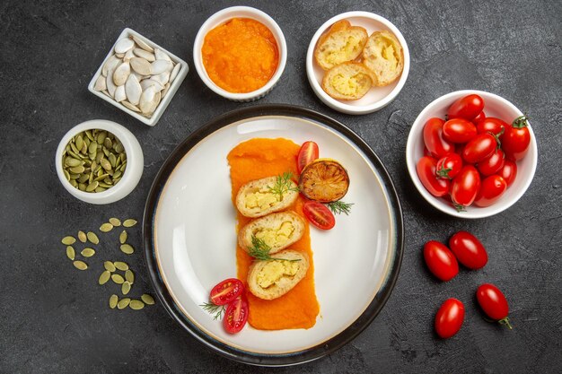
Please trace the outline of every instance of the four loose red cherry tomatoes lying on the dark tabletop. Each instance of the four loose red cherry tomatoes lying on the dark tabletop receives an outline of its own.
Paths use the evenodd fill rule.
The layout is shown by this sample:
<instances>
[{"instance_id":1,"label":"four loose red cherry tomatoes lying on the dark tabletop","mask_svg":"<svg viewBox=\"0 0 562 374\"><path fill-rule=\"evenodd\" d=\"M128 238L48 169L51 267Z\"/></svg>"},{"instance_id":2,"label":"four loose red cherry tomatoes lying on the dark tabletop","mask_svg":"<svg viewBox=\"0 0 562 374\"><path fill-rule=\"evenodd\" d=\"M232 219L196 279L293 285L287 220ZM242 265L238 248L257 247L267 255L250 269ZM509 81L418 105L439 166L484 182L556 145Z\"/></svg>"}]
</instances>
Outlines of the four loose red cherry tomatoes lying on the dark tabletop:
<instances>
[{"instance_id":1,"label":"four loose red cherry tomatoes lying on the dark tabletop","mask_svg":"<svg viewBox=\"0 0 562 374\"><path fill-rule=\"evenodd\" d=\"M487 251L474 235L467 231L459 231L449 239L449 248L435 240L428 241L424 246L426 265L438 279L450 281L459 274L459 264L476 270L487 264ZM476 291L480 308L501 324L509 324L509 306L504 293L490 283L481 284ZM447 299L435 315L435 332L443 339L455 335L464 321L464 305L461 300Z\"/></svg>"}]
</instances>

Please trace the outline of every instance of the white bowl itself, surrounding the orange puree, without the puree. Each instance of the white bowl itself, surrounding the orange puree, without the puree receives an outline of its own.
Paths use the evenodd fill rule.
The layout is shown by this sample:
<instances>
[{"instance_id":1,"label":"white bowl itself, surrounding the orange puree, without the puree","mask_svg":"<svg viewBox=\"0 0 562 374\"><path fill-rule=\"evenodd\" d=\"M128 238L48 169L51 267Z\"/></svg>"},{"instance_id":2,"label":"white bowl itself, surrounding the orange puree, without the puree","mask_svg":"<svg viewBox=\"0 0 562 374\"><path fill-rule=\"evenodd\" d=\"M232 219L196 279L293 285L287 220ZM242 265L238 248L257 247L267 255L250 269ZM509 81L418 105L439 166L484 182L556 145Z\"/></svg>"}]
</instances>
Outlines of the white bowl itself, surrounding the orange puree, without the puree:
<instances>
[{"instance_id":1,"label":"white bowl itself, surrounding the orange puree, without the puree","mask_svg":"<svg viewBox=\"0 0 562 374\"><path fill-rule=\"evenodd\" d=\"M215 27L231 20L233 18L250 18L252 20L261 22L273 33L273 36L277 40L277 48L279 50L279 65L277 65L277 71L265 86L261 87L259 90L246 92L246 93L233 93L222 89L217 86L209 75L206 73L205 66L203 65L203 57L201 55L201 48L203 48L203 42L205 41L205 36L207 32L215 29ZM232 6L230 8L225 8L209 17L205 23L198 30L198 34L195 37L195 42L193 44L193 65L195 65L195 70L197 70L199 76L203 83L206 84L208 88L215 91L219 95L226 99L234 101L253 101L263 98L268 94L269 91L279 81L281 74L285 70L285 64L287 60L287 46L285 42L285 36L283 31L277 25L277 22L273 20L268 14L261 12L259 9L252 8L250 6Z\"/></svg>"}]
</instances>

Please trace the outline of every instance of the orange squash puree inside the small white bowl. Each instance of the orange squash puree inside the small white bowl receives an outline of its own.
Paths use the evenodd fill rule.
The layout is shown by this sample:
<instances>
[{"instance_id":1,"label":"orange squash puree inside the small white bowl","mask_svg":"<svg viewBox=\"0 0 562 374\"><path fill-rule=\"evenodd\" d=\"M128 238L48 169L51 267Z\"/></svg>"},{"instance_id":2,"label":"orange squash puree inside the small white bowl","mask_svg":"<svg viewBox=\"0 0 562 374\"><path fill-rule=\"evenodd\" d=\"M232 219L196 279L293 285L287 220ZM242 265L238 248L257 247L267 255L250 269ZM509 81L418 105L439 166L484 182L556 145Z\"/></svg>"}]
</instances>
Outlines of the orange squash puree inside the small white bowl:
<instances>
[{"instance_id":1,"label":"orange squash puree inside the small white bowl","mask_svg":"<svg viewBox=\"0 0 562 374\"><path fill-rule=\"evenodd\" d=\"M265 86L279 65L273 33L249 18L233 18L207 32L201 54L211 81L234 93Z\"/></svg>"}]
</instances>

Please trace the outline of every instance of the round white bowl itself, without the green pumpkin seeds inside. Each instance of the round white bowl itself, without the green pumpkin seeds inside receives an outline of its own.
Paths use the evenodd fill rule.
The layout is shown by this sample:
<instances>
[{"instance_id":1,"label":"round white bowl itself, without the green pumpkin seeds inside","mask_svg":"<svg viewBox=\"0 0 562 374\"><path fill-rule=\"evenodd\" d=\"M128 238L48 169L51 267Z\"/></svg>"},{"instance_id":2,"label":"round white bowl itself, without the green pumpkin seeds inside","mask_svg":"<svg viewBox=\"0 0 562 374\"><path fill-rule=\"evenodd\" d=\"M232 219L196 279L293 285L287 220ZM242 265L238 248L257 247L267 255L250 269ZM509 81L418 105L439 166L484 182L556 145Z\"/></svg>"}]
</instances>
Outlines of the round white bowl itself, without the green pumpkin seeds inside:
<instances>
[{"instance_id":1,"label":"round white bowl itself, without the green pumpkin seeds inside","mask_svg":"<svg viewBox=\"0 0 562 374\"><path fill-rule=\"evenodd\" d=\"M98 193L84 192L73 187L68 180L66 180L62 162L63 152L65 151L66 144L70 142L70 139L78 133L93 128L101 128L117 136L127 154L127 168L125 168L125 172L123 173L123 177L119 180L119 183ZM70 192L72 196L91 204L110 204L127 196L135 189L143 175L144 162L143 150L140 144L138 144L135 135L124 126L104 119L92 119L71 128L58 144L57 154L55 155L55 167L60 183L62 183L66 191Z\"/></svg>"}]
</instances>

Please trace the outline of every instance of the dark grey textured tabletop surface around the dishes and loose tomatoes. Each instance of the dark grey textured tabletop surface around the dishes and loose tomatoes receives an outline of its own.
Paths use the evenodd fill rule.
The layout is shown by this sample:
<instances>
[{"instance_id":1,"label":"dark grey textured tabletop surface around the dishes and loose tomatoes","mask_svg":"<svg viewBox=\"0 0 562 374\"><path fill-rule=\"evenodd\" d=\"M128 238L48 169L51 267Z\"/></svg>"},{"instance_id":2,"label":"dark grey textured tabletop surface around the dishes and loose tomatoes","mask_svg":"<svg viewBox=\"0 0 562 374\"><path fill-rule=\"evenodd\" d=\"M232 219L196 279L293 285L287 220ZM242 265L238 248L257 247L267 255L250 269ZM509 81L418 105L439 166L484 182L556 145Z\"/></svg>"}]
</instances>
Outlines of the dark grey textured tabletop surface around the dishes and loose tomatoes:
<instances>
[{"instance_id":1,"label":"dark grey textured tabletop surface around the dishes and loose tomatoes","mask_svg":"<svg viewBox=\"0 0 562 374\"><path fill-rule=\"evenodd\" d=\"M224 100L206 89L191 65L192 44L208 16L233 3L187 1L4 1L0 4L0 372L3 373L420 373L560 372L562 368L562 6L558 1L297 1L241 4L276 19L289 49L277 88L259 103L290 103L334 117L379 154L404 210L405 255L386 307L351 344L297 368L260 369L227 361L181 330L161 306L110 310L112 290L79 272L60 238L99 227L111 216L143 213L151 182L175 145L207 120L254 103ZM411 70L387 108L350 117L321 104L305 74L313 33L329 17L363 10L394 22L408 41ZM155 127L145 126L86 89L120 31L130 27L191 65ZM406 171L409 126L430 101L450 91L491 91L528 110L539 144L537 174L522 199L477 221L438 213L417 194ZM143 178L115 204L82 203L61 187L53 157L75 124L92 118L127 126L145 152ZM484 242L487 266L461 270L450 283L428 274L426 240L470 230ZM140 227L130 230L141 248ZM113 233L117 235L116 233ZM345 248L342 248L345 251ZM120 257L119 257L120 258ZM127 261L134 290L150 290L140 250ZM513 331L487 323L476 308L480 283L496 283L510 302ZM440 303L466 306L461 332L435 337ZM345 308L345 306L342 306Z\"/></svg>"}]
</instances>

